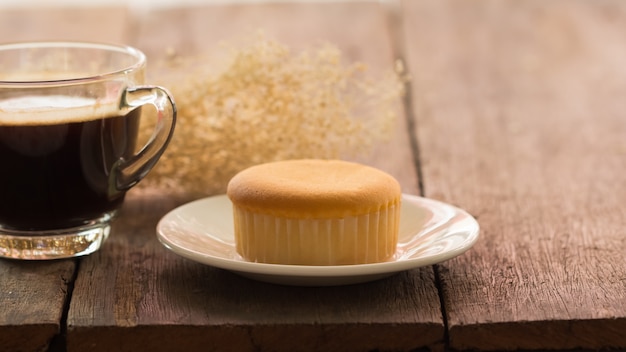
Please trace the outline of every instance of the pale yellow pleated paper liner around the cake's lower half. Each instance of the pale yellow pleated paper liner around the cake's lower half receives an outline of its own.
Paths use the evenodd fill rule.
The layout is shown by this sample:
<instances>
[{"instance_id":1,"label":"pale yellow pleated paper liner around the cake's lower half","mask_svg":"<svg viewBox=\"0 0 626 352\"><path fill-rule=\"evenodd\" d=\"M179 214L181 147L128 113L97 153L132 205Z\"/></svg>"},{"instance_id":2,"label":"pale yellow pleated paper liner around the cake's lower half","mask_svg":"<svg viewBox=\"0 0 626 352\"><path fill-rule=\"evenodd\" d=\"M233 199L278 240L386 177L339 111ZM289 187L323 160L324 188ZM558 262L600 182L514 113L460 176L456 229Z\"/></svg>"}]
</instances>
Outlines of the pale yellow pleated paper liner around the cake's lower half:
<instances>
[{"instance_id":1,"label":"pale yellow pleated paper liner around the cake's lower half","mask_svg":"<svg viewBox=\"0 0 626 352\"><path fill-rule=\"evenodd\" d=\"M233 207L237 252L246 260L288 265L377 263L396 251L400 205L365 215L292 219Z\"/></svg>"}]
</instances>

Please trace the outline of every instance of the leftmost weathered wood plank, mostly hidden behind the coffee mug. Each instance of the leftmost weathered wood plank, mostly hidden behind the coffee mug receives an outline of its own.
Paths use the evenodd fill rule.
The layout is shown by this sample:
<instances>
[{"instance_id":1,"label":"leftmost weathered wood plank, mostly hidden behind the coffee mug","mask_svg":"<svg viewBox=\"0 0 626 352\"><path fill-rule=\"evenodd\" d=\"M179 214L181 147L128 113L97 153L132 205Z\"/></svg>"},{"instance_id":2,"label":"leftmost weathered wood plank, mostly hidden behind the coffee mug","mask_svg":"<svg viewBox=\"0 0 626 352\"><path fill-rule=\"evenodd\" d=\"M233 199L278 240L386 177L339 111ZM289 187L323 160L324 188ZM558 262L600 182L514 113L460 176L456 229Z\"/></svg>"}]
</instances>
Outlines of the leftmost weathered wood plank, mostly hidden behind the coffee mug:
<instances>
[{"instance_id":1,"label":"leftmost weathered wood plank, mostly hidden behind the coffee mug","mask_svg":"<svg viewBox=\"0 0 626 352\"><path fill-rule=\"evenodd\" d=\"M124 8L2 9L0 42L121 41L126 14ZM63 348L62 317L75 270L76 260L0 260L0 351Z\"/></svg>"}]
</instances>

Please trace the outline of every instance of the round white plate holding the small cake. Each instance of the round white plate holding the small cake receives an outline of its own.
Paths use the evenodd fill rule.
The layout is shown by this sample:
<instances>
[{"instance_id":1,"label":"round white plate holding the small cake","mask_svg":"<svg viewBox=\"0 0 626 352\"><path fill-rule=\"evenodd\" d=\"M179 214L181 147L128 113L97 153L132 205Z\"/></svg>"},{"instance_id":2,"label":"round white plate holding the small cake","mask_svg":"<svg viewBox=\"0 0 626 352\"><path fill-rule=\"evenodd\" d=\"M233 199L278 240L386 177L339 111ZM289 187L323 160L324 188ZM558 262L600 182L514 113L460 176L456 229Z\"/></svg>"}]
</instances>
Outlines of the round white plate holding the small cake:
<instances>
[{"instance_id":1,"label":"round white plate holding the small cake","mask_svg":"<svg viewBox=\"0 0 626 352\"><path fill-rule=\"evenodd\" d=\"M226 195L203 198L166 214L157 225L159 241L199 263L265 282L297 286L347 285L440 263L471 248L476 220L462 209L432 199L402 195L398 247L389 261L308 266L254 263L235 250L232 203Z\"/></svg>"}]
</instances>

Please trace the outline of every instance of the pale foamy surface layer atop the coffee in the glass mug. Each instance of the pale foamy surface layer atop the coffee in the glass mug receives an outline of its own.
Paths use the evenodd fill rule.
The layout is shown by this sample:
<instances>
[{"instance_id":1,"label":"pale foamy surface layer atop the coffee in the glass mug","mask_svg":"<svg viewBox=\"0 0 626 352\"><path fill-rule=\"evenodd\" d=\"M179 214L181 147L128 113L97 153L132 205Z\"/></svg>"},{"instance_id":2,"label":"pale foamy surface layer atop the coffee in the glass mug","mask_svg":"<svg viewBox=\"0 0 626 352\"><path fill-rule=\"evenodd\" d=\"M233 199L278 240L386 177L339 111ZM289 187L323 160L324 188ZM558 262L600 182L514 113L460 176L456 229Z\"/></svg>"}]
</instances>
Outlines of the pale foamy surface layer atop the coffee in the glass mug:
<instances>
[{"instance_id":1,"label":"pale foamy surface layer atop the coffee in the glass mug","mask_svg":"<svg viewBox=\"0 0 626 352\"><path fill-rule=\"evenodd\" d=\"M23 96L0 100L0 126L53 125L119 115L117 103L66 95Z\"/></svg>"}]
</instances>

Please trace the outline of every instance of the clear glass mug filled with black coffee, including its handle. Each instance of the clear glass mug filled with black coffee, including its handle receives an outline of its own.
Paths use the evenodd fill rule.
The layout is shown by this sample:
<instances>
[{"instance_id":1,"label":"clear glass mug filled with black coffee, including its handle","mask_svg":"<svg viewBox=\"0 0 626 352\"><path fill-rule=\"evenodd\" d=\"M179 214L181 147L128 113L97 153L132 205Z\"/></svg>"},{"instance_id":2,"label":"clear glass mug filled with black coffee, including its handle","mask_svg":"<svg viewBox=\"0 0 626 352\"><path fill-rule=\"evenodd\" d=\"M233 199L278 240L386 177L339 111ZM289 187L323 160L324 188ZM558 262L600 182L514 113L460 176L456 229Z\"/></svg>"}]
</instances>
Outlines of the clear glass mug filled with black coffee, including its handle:
<instances>
[{"instance_id":1,"label":"clear glass mug filled with black coffee, including its handle","mask_svg":"<svg viewBox=\"0 0 626 352\"><path fill-rule=\"evenodd\" d=\"M165 151L176 107L137 49L0 45L0 257L67 258L108 237L128 189ZM137 148L142 107L154 132Z\"/></svg>"}]
</instances>

